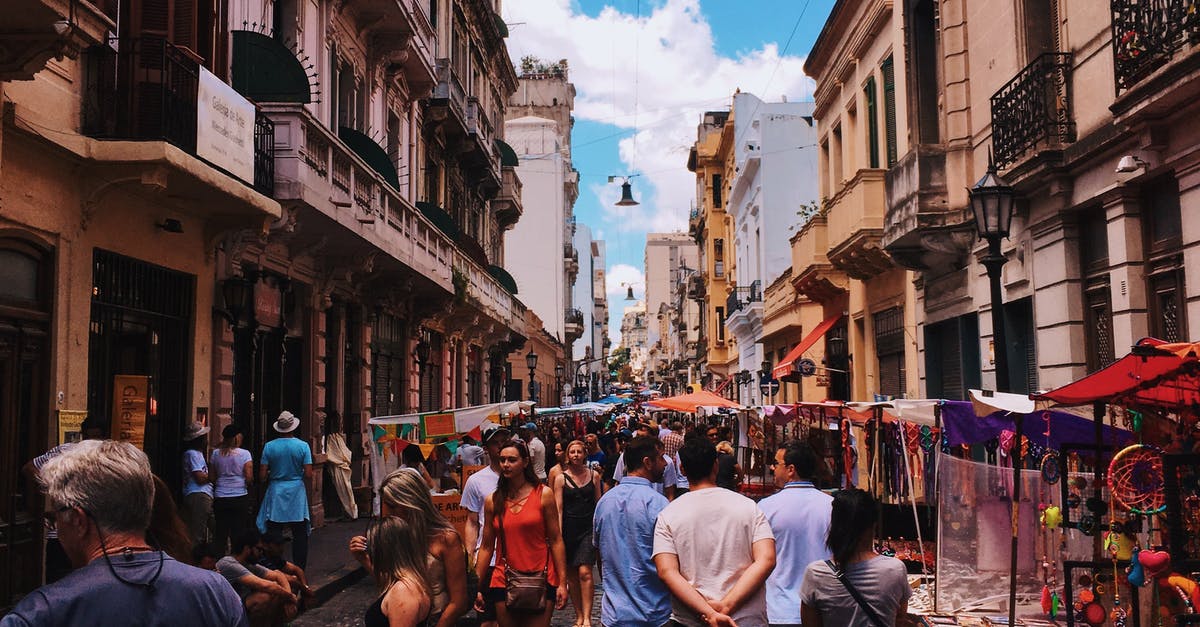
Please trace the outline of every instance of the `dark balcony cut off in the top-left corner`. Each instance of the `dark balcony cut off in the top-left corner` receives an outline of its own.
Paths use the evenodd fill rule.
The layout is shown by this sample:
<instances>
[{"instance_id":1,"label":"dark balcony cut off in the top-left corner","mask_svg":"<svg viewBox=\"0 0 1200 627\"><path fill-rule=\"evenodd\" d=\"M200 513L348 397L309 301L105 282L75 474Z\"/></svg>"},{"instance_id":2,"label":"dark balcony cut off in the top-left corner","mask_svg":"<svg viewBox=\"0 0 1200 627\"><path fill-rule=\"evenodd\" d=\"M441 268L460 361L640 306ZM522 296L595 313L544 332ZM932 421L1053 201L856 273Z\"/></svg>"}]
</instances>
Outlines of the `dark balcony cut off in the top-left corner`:
<instances>
[{"instance_id":1,"label":"dark balcony cut off in the top-left corner","mask_svg":"<svg viewBox=\"0 0 1200 627\"><path fill-rule=\"evenodd\" d=\"M76 58L103 43L116 25L97 6L76 0L5 0L0 83L31 80L55 56Z\"/></svg>"}]
</instances>

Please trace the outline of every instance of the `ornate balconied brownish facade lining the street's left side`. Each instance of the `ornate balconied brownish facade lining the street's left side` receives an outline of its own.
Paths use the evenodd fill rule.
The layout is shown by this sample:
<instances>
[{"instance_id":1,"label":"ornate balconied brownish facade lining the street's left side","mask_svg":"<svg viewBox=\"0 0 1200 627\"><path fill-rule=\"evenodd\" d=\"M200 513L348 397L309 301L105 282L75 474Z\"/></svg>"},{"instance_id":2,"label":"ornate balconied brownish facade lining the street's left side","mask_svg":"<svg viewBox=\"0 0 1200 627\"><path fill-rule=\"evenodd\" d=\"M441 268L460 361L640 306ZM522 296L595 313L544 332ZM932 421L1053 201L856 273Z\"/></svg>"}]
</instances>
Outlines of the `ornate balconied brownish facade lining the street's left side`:
<instances>
[{"instance_id":1,"label":"ornate balconied brownish facade lining the street's left side","mask_svg":"<svg viewBox=\"0 0 1200 627\"><path fill-rule=\"evenodd\" d=\"M365 486L372 416L503 399L541 324L503 270L521 196L497 6L6 2L4 494L83 417L178 486L188 422L257 455L288 410L322 525L325 434ZM35 538L5 555L40 565L24 509L0 503ZM0 572L0 598L37 571Z\"/></svg>"}]
</instances>

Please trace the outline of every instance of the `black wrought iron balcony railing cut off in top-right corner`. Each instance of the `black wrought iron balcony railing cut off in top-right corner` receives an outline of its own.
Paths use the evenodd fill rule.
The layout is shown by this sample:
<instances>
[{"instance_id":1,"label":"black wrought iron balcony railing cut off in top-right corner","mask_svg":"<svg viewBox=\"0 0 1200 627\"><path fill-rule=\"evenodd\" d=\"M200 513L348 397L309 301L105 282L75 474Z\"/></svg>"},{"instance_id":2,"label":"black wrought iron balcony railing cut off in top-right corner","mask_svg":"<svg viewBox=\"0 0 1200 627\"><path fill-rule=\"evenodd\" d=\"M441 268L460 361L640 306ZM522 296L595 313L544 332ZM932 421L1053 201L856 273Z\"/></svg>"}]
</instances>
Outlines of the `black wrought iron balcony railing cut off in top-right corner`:
<instances>
[{"instance_id":1,"label":"black wrought iron balcony railing cut off in top-right corner","mask_svg":"<svg viewBox=\"0 0 1200 627\"><path fill-rule=\"evenodd\" d=\"M1111 0L1116 92L1132 88L1200 37L1196 0Z\"/></svg>"}]
</instances>

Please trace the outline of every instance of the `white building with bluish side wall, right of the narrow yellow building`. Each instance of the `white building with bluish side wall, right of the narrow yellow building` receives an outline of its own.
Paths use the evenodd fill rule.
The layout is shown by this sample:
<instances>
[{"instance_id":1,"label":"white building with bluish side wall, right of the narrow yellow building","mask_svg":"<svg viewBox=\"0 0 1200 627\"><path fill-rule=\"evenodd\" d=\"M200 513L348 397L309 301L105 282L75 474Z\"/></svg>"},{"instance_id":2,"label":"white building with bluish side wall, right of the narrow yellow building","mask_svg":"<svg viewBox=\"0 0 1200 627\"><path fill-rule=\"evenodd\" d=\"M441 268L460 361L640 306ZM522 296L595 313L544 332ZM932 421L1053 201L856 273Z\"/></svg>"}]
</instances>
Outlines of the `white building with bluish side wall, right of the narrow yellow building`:
<instances>
[{"instance_id":1,"label":"white building with bluish side wall, right of the narrow yellow building","mask_svg":"<svg viewBox=\"0 0 1200 627\"><path fill-rule=\"evenodd\" d=\"M817 135L811 102L763 102L738 92L732 120L736 169L726 211L733 221L734 287L725 324L737 345L737 370L757 372L766 357L763 289L791 268L788 238L802 207L817 201ZM738 398L757 402L757 388L745 384Z\"/></svg>"}]
</instances>

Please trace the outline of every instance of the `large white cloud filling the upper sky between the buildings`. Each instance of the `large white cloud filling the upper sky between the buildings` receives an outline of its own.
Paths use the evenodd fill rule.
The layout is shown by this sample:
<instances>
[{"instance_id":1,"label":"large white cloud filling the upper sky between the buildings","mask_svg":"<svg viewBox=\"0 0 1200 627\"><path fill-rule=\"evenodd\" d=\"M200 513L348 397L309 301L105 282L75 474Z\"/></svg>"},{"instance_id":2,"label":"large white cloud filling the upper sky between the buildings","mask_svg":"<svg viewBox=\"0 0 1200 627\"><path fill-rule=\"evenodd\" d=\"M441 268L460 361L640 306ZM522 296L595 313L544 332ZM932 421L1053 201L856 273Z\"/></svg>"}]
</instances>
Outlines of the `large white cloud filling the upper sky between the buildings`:
<instances>
[{"instance_id":1,"label":"large white cloud filling the upper sky between the buildings","mask_svg":"<svg viewBox=\"0 0 1200 627\"><path fill-rule=\"evenodd\" d=\"M780 60L774 43L733 58L719 54L700 0L665 0L641 18L611 6L589 17L572 0L509 0L504 13L514 24L508 41L514 60L565 58L578 94L575 117L630 131L606 142L617 143L626 173L642 174L632 179L641 205L613 207L620 186L598 178L624 173L584 173L593 175L584 189L617 231L686 228L696 189L686 162L696 125L704 111L727 109L734 89L766 101L811 98L802 56Z\"/></svg>"}]
</instances>

